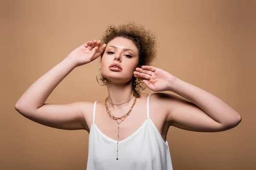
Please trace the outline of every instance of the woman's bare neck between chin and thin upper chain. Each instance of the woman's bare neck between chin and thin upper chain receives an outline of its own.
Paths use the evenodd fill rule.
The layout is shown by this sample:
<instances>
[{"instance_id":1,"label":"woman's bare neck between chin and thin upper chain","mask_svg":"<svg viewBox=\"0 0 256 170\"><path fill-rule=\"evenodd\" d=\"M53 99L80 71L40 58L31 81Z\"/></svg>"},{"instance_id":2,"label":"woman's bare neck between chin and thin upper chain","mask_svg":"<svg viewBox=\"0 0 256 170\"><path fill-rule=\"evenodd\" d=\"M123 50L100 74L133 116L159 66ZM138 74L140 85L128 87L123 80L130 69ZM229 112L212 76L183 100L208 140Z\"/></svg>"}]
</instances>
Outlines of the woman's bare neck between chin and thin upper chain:
<instances>
[{"instance_id":1,"label":"woman's bare neck between chin and thin upper chain","mask_svg":"<svg viewBox=\"0 0 256 170\"><path fill-rule=\"evenodd\" d=\"M127 102L133 96L132 82L126 84L107 83L108 100L113 104ZM128 102L129 103L129 102Z\"/></svg>"}]
</instances>

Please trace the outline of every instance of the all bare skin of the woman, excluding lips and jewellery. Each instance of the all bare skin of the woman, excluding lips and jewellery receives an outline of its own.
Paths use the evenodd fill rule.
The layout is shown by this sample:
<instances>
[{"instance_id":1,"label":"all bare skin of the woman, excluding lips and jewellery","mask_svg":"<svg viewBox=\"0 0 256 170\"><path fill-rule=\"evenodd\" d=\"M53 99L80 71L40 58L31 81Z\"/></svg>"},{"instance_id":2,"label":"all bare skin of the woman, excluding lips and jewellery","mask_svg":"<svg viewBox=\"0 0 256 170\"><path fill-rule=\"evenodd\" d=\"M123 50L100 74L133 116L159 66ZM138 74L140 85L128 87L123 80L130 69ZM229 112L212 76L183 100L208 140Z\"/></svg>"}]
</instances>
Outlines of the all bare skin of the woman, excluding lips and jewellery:
<instances>
[{"instance_id":1,"label":"all bare skin of the woman, excluding lips and jewellery","mask_svg":"<svg viewBox=\"0 0 256 170\"><path fill-rule=\"evenodd\" d=\"M142 80L147 88L156 92L150 97L150 118L164 141L170 126L198 132L219 132L236 127L241 122L239 113L209 92L160 68L139 68L138 49L131 40L122 37L116 37L108 45L102 46L100 41L88 41L73 50L27 89L17 101L15 109L26 118L42 125L66 130L84 129L90 132L93 102L55 105L45 101L74 68L92 62L104 49L102 74L108 79L109 100L115 104L128 101L133 92L130 81L132 76ZM113 63L119 63L122 71L111 71L109 66ZM161 93L162 91L172 91L181 97ZM131 114L120 124L119 141L133 134L145 121L147 97L148 94L142 93ZM127 113L133 101L134 98L123 105L108 103L108 107L114 116L120 117ZM117 140L117 123L108 116L104 104L105 101L102 101L96 105L95 123L102 133Z\"/></svg>"}]
</instances>

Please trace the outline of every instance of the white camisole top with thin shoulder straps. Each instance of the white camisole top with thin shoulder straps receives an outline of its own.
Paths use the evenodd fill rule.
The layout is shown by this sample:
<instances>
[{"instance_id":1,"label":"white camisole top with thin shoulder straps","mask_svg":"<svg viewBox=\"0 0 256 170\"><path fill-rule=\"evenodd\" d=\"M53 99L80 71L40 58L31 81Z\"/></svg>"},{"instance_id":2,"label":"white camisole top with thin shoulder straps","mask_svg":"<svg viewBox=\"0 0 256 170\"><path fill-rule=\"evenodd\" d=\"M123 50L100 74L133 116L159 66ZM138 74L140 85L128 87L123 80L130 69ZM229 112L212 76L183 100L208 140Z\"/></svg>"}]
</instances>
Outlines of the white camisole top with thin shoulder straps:
<instances>
[{"instance_id":1,"label":"white camisole top with thin shoulder straps","mask_svg":"<svg viewBox=\"0 0 256 170\"><path fill-rule=\"evenodd\" d=\"M136 132L118 143L103 134L95 124L96 102L93 108L93 124L90 127L87 170L172 170L169 145L149 118ZM120 124L122 125L122 124Z\"/></svg>"}]
</instances>

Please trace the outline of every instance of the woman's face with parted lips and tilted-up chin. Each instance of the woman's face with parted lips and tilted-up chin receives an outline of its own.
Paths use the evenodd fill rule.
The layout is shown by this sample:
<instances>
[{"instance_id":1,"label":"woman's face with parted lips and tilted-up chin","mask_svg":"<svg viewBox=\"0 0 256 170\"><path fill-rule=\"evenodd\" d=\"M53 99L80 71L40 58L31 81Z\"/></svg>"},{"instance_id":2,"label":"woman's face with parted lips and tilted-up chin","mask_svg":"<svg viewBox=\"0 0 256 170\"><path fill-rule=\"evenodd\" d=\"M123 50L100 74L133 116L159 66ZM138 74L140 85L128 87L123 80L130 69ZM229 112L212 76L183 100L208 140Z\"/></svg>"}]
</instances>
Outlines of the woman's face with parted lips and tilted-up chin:
<instances>
[{"instance_id":1,"label":"woman's face with parted lips and tilted-up chin","mask_svg":"<svg viewBox=\"0 0 256 170\"><path fill-rule=\"evenodd\" d=\"M102 76L114 83L127 83L139 62L139 51L132 40L116 37L111 40L102 57Z\"/></svg>"}]
</instances>

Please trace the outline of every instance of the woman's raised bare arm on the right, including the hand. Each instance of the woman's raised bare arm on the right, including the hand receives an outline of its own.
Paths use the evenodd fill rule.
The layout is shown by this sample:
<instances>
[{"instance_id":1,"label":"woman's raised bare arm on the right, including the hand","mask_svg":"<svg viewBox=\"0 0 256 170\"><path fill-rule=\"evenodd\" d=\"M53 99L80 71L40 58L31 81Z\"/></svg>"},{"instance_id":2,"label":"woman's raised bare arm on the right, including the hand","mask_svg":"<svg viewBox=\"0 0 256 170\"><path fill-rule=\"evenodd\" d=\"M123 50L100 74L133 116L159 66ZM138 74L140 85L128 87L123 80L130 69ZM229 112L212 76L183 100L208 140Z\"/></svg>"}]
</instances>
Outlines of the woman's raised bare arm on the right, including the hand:
<instances>
[{"instance_id":1,"label":"woman's raised bare arm on the right, including the hand","mask_svg":"<svg viewBox=\"0 0 256 170\"><path fill-rule=\"evenodd\" d=\"M157 94L160 105L167 112L170 126L198 132L219 132L236 127L241 116L217 96L178 79L160 68L142 66L134 76L141 79L153 91L173 91Z\"/></svg>"}]
</instances>

